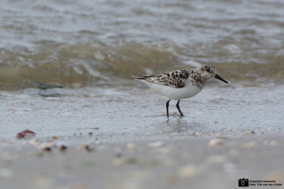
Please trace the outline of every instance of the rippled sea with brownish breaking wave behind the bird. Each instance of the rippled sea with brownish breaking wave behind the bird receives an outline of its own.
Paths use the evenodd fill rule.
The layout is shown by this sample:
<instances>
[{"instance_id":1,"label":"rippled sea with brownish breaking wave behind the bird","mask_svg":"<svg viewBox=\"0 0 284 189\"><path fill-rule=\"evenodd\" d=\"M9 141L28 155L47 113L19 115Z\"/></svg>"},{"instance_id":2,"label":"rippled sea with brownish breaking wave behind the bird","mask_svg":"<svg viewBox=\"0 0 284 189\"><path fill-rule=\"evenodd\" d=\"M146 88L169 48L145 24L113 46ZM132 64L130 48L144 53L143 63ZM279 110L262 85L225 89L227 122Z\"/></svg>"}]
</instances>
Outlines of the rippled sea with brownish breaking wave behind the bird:
<instances>
[{"instance_id":1,"label":"rippled sea with brownish breaking wave behind the bird","mask_svg":"<svg viewBox=\"0 0 284 189\"><path fill-rule=\"evenodd\" d=\"M283 84L283 8L270 0L2 1L0 89L136 85L128 75L204 63L230 82Z\"/></svg>"}]
</instances>

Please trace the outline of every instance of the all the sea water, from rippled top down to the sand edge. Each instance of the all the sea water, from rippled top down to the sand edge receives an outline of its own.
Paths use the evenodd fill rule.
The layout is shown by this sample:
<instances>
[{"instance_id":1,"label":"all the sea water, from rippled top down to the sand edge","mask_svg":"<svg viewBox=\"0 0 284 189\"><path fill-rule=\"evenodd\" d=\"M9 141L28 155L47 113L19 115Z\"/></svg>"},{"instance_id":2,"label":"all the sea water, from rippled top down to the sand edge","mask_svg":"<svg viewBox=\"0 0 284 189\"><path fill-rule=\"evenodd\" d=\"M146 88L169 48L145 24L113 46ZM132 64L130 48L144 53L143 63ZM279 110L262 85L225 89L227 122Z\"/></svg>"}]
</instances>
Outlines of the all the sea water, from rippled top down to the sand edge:
<instances>
[{"instance_id":1,"label":"all the sea water, from rippled top down to the sand edge","mask_svg":"<svg viewBox=\"0 0 284 189\"><path fill-rule=\"evenodd\" d=\"M283 132L284 1L3 0L2 137ZM213 79L175 103L129 75L212 64ZM92 128L99 128L94 130Z\"/></svg>"}]
</instances>

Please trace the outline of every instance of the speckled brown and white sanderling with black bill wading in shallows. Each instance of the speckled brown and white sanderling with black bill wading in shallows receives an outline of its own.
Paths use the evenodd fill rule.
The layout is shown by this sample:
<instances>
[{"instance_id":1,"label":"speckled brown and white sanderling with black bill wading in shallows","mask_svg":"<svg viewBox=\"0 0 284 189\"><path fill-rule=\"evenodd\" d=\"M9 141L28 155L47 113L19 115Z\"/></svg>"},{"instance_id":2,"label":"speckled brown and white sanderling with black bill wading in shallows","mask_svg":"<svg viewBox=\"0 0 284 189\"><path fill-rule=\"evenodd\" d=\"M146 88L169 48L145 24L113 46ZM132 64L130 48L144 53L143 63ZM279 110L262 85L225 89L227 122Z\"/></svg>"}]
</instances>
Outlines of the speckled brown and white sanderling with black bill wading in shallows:
<instances>
[{"instance_id":1,"label":"speckled brown and white sanderling with black bill wading in shallows","mask_svg":"<svg viewBox=\"0 0 284 189\"><path fill-rule=\"evenodd\" d=\"M183 116L179 109L179 101L181 99L197 95L202 91L207 82L214 77L228 83L216 74L216 68L210 64L204 64L195 69L177 69L158 75L131 76L146 83L156 93L166 96L169 99L166 103L167 116L169 116L170 100L178 100L176 106L181 116Z\"/></svg>"}]
</instances>

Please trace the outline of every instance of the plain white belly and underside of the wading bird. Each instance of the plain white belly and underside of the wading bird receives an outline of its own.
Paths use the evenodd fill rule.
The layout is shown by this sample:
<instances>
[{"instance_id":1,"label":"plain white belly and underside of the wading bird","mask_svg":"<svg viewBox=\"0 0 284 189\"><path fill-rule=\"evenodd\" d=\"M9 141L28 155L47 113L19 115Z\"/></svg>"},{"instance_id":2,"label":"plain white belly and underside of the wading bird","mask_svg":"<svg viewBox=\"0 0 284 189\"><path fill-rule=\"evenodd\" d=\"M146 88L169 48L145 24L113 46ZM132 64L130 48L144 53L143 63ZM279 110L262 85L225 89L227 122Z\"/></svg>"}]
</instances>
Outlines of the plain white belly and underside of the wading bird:
<instances>
[{"instance_id":1,"label":"plain white belly and underside of the wading bird","mask_svg":"<svg viewBox=\"0 0 284 189\"><path fill-rule=\"evenodd\" d=\"M197 95L203 89L203 88L200 89L197 86L193 86L191 85L191 83L188 83L187 85L185 85L185 87L182 87L182 88L173 88L167 85L152 83L152 82L145 81L145 80L139 80L139 81L142 81L143 83L148 85L156 93L166 96L167 98L172 99L172 100L191 98Z\"/></svg>"}]
</instances>

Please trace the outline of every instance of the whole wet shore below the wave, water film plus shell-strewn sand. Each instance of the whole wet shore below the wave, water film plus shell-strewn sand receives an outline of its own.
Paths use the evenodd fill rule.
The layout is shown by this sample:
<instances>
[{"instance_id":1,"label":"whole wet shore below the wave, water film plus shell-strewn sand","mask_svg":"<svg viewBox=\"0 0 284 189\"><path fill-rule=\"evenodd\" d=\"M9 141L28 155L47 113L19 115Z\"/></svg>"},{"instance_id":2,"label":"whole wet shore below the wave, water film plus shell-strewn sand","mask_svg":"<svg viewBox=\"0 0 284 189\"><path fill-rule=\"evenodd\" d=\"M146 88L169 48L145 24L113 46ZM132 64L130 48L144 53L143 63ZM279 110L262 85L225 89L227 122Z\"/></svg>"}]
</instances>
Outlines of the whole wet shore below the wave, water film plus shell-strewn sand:
<instances>
[{"instance_id":1,"label":"whole wet shore below the wave, water film plus shell-strewn sand","mask_svg":"<svg viewBox=\"0 0 284 189\"><path fill-rule=\"evenodd\" d=\"M1 91L1 187L284 184L282 86L214 85L181 101L185 117L170 104L169 118L166 99L143 87ZM26 129L36 136L16 139Z\"/></svg>"}]
</instances>

